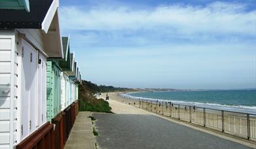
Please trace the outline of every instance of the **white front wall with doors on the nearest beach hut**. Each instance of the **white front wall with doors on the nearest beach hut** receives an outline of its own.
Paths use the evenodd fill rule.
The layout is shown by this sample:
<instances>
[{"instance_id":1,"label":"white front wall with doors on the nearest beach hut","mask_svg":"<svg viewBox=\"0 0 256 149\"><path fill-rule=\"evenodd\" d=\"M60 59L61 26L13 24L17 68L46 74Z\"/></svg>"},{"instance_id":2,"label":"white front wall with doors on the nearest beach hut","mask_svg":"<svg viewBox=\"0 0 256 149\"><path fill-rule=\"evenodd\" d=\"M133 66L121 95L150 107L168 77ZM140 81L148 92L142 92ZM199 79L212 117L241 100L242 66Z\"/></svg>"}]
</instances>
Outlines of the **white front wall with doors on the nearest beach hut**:
<instances>
[{"instance_id":1,"label":"white front wall with doors on the nearest beach hut","mask_svg":"<svg viewBox=\"0 0 256 149\"><path fill-rule=\"evenodd\" d=\"M46 123L46 58L26 40L18 38L20 100L17 143Z\"/></svg>"}]
</instances>

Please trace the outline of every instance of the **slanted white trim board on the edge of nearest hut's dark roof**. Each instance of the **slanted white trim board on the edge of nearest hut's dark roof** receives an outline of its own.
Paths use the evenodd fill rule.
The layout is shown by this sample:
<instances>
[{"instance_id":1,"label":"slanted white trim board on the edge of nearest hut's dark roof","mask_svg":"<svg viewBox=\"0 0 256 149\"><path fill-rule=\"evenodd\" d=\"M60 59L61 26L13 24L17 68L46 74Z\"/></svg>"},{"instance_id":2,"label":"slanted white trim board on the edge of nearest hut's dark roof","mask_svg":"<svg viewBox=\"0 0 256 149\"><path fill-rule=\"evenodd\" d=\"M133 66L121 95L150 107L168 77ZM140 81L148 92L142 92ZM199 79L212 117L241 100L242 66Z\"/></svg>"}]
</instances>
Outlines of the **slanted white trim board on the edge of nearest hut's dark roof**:
<instances>
[{"instance_id":1,"label":"slanted white trim board on the edge of nearest hut's dark roof","mask_svg":"<svg viewBox=\"0 0 256 149\"><path fill-rule=\"evenodd\" d=\"M50 27L50 23L52 22L52 19L54 18L54 14L59 7L59 0L52 1L52 5L50 5L50 8L48 9L45 19L42 22L42 30L47 33L48 29ZM63 55L63 54L62 54Z\"/></svg>"}]
</instances>

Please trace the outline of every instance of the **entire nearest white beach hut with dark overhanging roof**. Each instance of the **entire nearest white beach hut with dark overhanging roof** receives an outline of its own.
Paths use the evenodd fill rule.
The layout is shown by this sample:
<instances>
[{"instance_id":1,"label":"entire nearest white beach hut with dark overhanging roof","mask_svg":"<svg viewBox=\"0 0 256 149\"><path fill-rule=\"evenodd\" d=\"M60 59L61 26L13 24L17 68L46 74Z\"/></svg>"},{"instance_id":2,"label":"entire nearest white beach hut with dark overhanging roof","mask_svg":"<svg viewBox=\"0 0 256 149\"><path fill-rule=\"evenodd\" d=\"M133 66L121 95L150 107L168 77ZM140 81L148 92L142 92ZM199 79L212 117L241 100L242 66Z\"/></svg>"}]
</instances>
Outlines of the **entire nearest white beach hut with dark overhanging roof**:
<instances>
[{"instance_id":1,"label":"entire nearest white beach hut with dark overhanging roof","mask_svg":"<svg viewBox=\"0 0 256 149\"><path fill-rule=\"evenodd\" d=\"M58 6L0 7L0 148L14 148L46 124L46 58L64 57Z\"/></svg>"}]
</instances>

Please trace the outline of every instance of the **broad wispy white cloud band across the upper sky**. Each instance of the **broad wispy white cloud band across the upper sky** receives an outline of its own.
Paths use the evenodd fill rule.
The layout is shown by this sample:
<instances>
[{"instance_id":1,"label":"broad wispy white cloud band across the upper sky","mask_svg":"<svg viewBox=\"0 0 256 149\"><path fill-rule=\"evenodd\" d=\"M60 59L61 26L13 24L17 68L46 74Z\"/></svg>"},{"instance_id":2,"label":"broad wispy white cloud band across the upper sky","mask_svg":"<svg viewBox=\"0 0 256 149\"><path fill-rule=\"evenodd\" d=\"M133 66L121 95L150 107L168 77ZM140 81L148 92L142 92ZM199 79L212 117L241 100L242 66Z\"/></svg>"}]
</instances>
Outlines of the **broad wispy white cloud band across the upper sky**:
<instances>
[{"instance_id":1,"label":"broad wispy white cloud band across the upper sky","mask_svg":"<svg viewBox=\"0 0 256 149\"><path fill-rule=\"evenodd\" d=\"M62 7L62 29L96 31L170 31L175 35L256 35L256 11L238 3L211 3L206 7L170 5L154 10L131 8Z\"/></svg>"}]
</instances>

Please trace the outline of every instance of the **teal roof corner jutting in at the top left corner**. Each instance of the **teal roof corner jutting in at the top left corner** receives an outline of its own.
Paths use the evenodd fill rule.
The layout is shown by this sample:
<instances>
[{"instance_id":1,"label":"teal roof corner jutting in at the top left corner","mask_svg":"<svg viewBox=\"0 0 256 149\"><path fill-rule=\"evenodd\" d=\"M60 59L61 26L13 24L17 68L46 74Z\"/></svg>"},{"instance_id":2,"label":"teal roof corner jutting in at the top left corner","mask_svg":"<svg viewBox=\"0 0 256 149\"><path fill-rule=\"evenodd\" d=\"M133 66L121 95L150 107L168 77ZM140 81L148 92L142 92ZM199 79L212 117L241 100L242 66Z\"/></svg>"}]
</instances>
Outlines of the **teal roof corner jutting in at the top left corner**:
<instances>
[{"instance_id":1,"label":"teal roof corner jutting in at the top left corner","mask_svg":"<svg viewBox=\"0 0 256 149\"><path fill-rule=\"evenodd\" d=\"M26 10L29 12L29 0L1 0L0 9Z\"/></svg>"}]
</instances>

